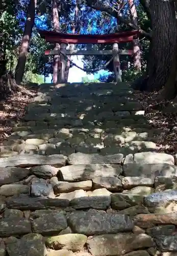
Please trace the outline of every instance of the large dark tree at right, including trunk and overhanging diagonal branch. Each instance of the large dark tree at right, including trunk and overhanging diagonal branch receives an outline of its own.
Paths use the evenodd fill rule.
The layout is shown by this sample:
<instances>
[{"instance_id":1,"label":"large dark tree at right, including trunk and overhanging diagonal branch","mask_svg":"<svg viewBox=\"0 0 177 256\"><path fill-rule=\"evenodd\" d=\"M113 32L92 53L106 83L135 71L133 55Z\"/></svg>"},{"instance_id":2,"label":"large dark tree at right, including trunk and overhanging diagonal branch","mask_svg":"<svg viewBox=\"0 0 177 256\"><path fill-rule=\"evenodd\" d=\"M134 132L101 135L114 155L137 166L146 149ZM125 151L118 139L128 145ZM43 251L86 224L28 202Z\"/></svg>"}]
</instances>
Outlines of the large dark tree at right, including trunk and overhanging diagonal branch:
<instances>
[{"instance_id":1,"label":"large dark tree at right, including trunk and overhanging diagonal branch","mask_svg":"<svg viewBox=\"0 0 177 256\"><path fill-rule=\"evenodd\" d=\"M176 95L176 0L140 0L144 12L150 19L151 31L145 31L131 22L130 17L118 12L114 8L116 1L86 0L86 3L95 10L112 15L129 28L139 30L141 38L145 36L150 39L147 69L134 83L134 88L153 91L165 87L168 91L165 97L174 97Z\"/></svg>"}]
</instances>

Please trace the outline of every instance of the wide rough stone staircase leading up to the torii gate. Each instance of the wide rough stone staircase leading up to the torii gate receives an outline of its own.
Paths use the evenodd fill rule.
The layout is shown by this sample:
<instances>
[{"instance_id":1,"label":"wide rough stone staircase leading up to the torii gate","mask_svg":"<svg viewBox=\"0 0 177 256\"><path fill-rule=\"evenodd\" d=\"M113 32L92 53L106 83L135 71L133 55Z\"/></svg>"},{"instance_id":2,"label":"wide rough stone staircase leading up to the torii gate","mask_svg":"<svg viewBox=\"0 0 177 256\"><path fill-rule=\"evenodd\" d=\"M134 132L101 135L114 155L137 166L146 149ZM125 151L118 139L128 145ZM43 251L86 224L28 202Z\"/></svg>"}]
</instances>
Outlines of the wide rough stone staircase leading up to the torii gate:
<instances>
[{"instance_id":1,"label":"wide rough stone staircase leading up to the torii gate","mask_svg":"<svg viewBox=\"0 0 177 256\"><path fill-rule=\"evenodd\" d=\"M0 256L177 255L177 161L127 83L41 84L0 152Z\"/></svg>"}]
</instances>

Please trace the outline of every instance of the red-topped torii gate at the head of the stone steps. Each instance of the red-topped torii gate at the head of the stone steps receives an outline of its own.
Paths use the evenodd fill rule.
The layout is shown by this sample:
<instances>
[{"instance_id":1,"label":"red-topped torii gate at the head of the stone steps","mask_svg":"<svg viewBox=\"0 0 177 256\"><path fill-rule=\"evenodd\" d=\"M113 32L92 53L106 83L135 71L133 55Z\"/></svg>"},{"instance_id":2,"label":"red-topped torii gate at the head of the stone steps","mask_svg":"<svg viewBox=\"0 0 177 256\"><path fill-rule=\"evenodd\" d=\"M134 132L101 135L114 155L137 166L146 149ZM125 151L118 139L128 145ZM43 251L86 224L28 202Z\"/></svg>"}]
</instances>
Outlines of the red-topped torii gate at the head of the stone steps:
<instances>
[{"instance_id":1,"label":"red-topped torii gate at the head of the stone steps","mask_svg":"<svg viewBox=\"0 0 177 256\"><path fill-rule=\"evenodd\" d=\"M133 55L133 50L119 51L120 42L130 42L139 35L138 30L119 32L104 35L83 35L83 34L64 34L55 31L38 30L42 38L47 42L61 44L60 51L45 51L45 55L60 55L58 69L58 83L65 82L65 56L66 55L113 55L114 72L116 81L121 81L120 59L119 54ZM113 44L112 50L66 50L68 44Z\"/></svg>"}]
</instances>

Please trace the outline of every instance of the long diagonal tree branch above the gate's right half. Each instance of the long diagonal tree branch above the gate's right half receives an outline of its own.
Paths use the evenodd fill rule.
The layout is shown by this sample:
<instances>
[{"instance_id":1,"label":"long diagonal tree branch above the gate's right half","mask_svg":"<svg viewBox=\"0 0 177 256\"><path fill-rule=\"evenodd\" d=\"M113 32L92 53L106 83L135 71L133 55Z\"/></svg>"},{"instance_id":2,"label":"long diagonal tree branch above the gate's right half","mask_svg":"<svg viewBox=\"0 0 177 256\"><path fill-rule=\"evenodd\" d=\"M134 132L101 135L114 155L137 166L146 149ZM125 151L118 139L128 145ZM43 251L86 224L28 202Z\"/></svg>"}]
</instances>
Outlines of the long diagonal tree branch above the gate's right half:
<instances>
[{"instance_id":1,"label":"long diagonal tree branch above the gate's right half","mask_svg":"<svg viewBox=\"0 0 177 256\"><path fill-rule=\"evenodd\" d=\"M148 1L148 0L147 0ZM120 20L121 23L124 23L125 25L128 25L129 27L131 27L132 29L135 29L135 30L139 30L139 32L148 37L148 38L151 38L151 34L147 33L146 31L140 29L138 26L136 26L135 24L133 24L130 20L128 19L125 19L122 15L122 13L118 13L117 11L114 11L111 7L105 7L103 5L93 5L92 4L92 0L86 0L86 4L92 8L92 9L95 9L97 11L102 11L102 12L106 12L108 14L110 14L111 16L117 18Z\"/></svg>"}]
</instances>

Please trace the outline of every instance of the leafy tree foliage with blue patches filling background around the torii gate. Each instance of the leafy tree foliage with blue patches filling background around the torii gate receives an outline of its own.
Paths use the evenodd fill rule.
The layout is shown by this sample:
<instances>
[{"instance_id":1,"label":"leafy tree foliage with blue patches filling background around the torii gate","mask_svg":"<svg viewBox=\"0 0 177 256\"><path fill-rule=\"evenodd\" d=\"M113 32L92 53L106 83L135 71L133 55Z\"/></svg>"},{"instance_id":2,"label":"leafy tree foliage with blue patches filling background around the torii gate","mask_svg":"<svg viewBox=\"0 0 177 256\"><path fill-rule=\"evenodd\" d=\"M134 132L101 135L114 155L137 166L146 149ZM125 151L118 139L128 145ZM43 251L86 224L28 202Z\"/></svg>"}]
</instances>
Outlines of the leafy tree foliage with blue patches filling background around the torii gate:
<instances>
[{"instance_id":1,"label":"leafy tree foliage with blue patches filling background around the torii gate","mask_svg":"<svg viewBox=\"0 0 177 256\"><path fill-rule=\"evenodd\" d=\"M22 11L27 11L27 2L28 0L2 0L1 10L0 10L0 51L6 53L7 60L7 69L14 72L15 66L17 63L18 57L18 47L20 45L22 29L20 28L20 18L18 13ZM61 31L68 33L71 32L71 27L74 21L74 8L75 2L71 0L60 1L61 8L59 8L60 16L60 25ZM110 3L114 4L114 0L104 1L106 6L109 6ZM104 28L108 32L106 33L115 33L117 31L127 31L130 28L124 24L113 22L112 17L106 12L99 12L85 6L83 1L79 1L80 10L79 10L79 24L77 26L82 28L81 33L92 33L93 28L99 29L100 33L104 33ZM84 8L83 8L84 7ZM138 13L138 24L141 29L145 31L150 30L150 20L148 19L146 13L143 10L141 5L137 6ZM45 14L47 17L47 26L48 29L53 27L53 13L52 13L52 1L50 0L39 0L37 1L37 15ZM129 12L124 12L124 16L128 18ZM79 31L79 29L76 31ZM3 47L3 49L1 49ZM78 47L78 46L77 46ZM80 48L83 46L80 45ZM97 45L95 50L105 50L111 49L111 45ZM132 49L132 44L120 44L120 49ZM149 49L149 40L146 38L140 38L140 48L142 51L142 72L146 69L147 59L148 59L148 49ZM42 39L37 30L34 28L32 33L32 39L30 42L30 49L26 63L26 69L24 74L24 81L31 79L32 82L40 80L41 75L48 76L53 73L53 57L45 56L45 50L54 49L54 45L47 44L44 39ZM97 69L100 65L104 65L111 56L100 55L100 56L85 56L84 57L84 67L87 69ZM127 71L122 72L122 80L129 81L134 80L140 74L133 69L133 58L127 55L121 55L120 61L123 60L130 62L131 67ZM111 62L106 71L113 72L113 63ZM114 80L113 75L108 76L108 79ZM95 81L98 79L90 80L88 77L83 78L84 82ZM42 82L42 81L41 81Z\"/></svg>"}]
</instances>

